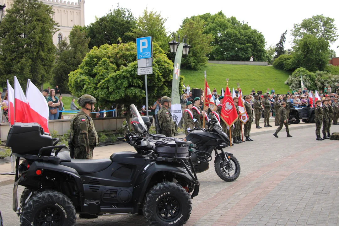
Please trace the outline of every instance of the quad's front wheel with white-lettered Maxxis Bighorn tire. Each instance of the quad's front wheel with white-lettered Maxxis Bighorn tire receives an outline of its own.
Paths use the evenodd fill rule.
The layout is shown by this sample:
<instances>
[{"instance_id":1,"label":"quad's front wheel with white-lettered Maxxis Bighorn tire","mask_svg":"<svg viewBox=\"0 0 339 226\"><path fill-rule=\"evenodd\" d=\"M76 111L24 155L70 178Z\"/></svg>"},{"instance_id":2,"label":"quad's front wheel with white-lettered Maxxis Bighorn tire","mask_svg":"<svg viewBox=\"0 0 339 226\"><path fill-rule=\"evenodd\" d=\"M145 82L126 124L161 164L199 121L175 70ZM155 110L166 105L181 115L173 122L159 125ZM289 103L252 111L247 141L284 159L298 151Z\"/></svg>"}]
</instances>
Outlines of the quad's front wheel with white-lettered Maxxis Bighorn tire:
<instances>
[{"instance_id":1,"label":"quad's front wheel with white-lettered Maxxis Bighorn tire","mask_svg":"<svg viewBox=\"0 0 339 226\"><path fill-rule=\"evenodd\" d=\"M149 190L142 208L147 223L157 226L181 226L190 218L191 210L190 194L173 182L162 182Z\"/></svg>"}]
</instances>

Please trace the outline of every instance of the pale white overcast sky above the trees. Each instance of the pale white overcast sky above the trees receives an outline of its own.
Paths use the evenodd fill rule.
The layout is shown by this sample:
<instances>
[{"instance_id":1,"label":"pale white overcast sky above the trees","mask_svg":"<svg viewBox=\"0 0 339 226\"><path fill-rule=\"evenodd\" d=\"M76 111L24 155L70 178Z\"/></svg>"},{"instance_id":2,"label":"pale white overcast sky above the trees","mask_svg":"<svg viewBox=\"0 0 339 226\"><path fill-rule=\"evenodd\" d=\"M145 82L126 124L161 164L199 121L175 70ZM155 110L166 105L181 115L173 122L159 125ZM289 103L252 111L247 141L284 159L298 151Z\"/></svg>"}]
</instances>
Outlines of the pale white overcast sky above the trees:
<instances>
[{"instance_id":1,"label":"pale white overcast sky above the trees","mask_svg":"<svg viewBox=\"0 0 339 226\"><path fill-rule=\"evenodd\" d=\"M204 13L215 14L222 11L227 17L235 16L239 21L248 24L261 32L267 45L278 43L280 35L287 29L285 46L291 47L291 29L294 23L300 23L305 18L313 15L323 14L326 17L335 19L335 24L339 27L339 1L314 1L314 0L259 0L259 1L163 1L163 0L85 0L85 24L89 25L95 21L95 16L106 15L109 9L117 7L131 9L137 18L143 10L161 13L163 18L167 18L165 26L168 32L178 30L182 20L193 15ZM339 56L339 40L331 45L331 49Z\"/></svg>"}]
</instances>

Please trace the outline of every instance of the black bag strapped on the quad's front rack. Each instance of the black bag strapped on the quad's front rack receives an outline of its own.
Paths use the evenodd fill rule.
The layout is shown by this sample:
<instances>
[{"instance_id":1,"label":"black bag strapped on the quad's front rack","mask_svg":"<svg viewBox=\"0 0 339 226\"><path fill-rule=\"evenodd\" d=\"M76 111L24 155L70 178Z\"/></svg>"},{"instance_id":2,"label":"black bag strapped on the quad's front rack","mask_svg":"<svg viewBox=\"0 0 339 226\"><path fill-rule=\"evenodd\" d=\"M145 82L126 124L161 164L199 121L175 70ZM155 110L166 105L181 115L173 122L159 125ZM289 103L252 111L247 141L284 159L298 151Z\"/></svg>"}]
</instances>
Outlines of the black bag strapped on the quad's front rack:
<instances>
[{"instance_id":1,"label":"black bag strapped on the quad's front rack","mask_svg":"<svg viewBox=\"0 0 339 226\"><path fill-rule=\"evenodd\" d=\"M175 155L176 140L180 139L174 137L167 137L165 139L157 141L155 143L155 149L159 157L173 158ZM177 157L188 157L187 146L181 147L179 145Z\"/></svg>"}]
</instances>

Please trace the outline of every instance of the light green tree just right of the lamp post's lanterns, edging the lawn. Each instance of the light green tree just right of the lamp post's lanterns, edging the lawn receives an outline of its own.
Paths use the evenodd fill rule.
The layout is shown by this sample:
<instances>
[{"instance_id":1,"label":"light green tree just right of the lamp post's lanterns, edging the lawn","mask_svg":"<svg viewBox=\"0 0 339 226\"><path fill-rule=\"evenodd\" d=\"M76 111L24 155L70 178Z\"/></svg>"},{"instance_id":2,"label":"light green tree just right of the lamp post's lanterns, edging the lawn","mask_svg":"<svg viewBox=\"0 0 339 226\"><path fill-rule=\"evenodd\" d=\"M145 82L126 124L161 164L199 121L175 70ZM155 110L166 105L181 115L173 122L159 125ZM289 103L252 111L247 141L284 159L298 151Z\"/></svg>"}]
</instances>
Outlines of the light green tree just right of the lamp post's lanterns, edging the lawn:
<instances>
[{"instance_id":1,"label":"light green tree just right of the lamp post's lanterns, edging the lawn","mask_svg":"<svg viewBox=\"0 0 339 226\"><path fill-rule=\"evenodd\" d=\"M213 48L210 46L213 36L212 34L203 34L204 25L205 22L200 18L190 19L179 30L182 38L187 35L187 43L191 45L188 56L182 58L181 65L183 67L199 70L206 65L208 60L206 56L211 53Z\"/></svg>"}]
</instances>

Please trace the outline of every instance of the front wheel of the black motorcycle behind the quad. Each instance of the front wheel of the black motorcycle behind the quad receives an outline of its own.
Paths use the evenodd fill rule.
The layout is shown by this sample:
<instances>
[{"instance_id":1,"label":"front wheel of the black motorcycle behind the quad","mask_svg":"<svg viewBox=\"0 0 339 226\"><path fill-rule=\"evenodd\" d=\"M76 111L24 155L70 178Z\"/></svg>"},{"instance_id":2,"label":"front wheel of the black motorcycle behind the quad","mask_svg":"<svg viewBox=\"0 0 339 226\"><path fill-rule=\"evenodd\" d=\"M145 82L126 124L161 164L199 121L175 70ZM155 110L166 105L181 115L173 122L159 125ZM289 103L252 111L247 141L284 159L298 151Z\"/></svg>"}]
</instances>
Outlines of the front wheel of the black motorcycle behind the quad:
<instances>
[{"instance_id":1,"label":"front wheel of the black motorcycle behind the quad","mask_svg":"<svg viewBox=\"0 0 339 226\"><path fill-rule=\"evenodd\" d=\"M234 173L233 173L233 170L228 171L226 170L226 168L223 167L224 163L220 156L217 156L214 162L215 172L217 173L217 175L219 176L221 180L224 180L227 182L235 181L240 175L239 161L233 155L229 155L229 156L231 157L229 160L233 164Z\"/></svg>"}]
</instances>

